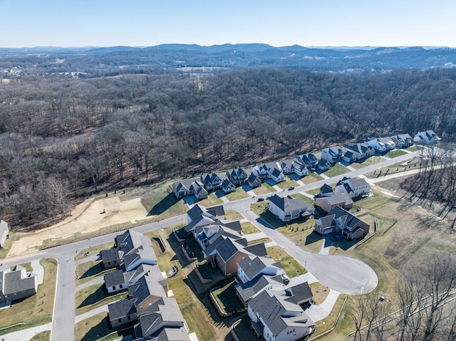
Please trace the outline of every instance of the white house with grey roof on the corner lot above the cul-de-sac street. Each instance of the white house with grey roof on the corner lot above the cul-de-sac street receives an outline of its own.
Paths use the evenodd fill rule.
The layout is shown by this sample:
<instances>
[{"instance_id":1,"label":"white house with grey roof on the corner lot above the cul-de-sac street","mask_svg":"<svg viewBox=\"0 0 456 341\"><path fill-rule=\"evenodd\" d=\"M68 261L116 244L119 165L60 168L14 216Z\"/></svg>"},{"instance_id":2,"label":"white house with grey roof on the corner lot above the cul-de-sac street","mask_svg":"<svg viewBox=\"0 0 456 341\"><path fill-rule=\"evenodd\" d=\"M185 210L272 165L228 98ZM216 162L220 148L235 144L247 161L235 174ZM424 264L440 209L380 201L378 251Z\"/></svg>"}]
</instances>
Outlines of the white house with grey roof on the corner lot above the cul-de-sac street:
<instances>
[{"instance_id":1,"label":"white house with grey roof on the corner lot above the cul-de-sac street","mask_svg":"<svg viewBox=\"0 0 456 341\"><path fill-rule=\"evenodd\" d=\"M308 212L314 214L314 206L291 196L278 196L274 194L269 199L269 211L277 216L281 221L298 219L302 214Z\"/></svg>"}]
</instances>

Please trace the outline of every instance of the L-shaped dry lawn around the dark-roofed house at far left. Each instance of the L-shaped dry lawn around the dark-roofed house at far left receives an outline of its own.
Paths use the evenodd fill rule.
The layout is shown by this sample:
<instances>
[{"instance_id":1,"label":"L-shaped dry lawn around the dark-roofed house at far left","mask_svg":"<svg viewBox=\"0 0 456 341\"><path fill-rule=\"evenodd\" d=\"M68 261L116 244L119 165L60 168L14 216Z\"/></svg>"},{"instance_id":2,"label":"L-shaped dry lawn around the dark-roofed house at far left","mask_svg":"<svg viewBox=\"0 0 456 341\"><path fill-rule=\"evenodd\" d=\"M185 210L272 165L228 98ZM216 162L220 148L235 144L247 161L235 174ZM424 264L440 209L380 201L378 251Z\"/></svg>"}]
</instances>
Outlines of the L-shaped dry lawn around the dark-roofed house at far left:
<instances>
[{"instance_id":1,"label":"L-shaped dry lawn around the dark-roofed house at far left","mask_svg":"<svg viewBox=\"0 0 456 341\"><path fill-rule=\"evenodd\" d=\"M52 321L54 294L56 292L57 261L44 258L40 261L44 268L43 283L38 285L36 295L13 303L11 308L0 313L0 335L23 330ZM17 325L24 323L23 325ZM16 327L9 327L17 325Z\"/></svg>"}]
</instances>

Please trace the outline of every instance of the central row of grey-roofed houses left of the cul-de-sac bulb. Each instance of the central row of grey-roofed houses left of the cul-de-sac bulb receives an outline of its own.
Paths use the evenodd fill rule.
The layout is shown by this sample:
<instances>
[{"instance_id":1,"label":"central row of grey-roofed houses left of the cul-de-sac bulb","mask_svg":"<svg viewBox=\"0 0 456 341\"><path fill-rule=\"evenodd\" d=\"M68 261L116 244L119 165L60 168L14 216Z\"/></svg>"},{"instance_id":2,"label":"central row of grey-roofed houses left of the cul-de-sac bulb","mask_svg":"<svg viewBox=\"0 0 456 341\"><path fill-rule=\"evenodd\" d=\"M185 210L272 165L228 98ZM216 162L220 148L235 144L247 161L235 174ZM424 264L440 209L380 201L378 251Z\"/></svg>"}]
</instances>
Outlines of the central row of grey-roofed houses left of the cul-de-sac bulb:
<instances>
[{"instance_id":1,"label":"central row of grey-roofed houses left of the cul-de-sac bulb","mask_svg":"<svg viewBox=\"0 0 456 341\"><path fill-rule=\"evenodd\" d=\"M258 337L299 340L314 332L315 323L303 309L312 299L309 284L291 284L281 263L266 257L264 243L248 246L239 221L224 220L223 206L196 204L187 212L185 231L202 247L207 263L225 276L237 276L237 298Z\"/></svg>"}]
</instances>

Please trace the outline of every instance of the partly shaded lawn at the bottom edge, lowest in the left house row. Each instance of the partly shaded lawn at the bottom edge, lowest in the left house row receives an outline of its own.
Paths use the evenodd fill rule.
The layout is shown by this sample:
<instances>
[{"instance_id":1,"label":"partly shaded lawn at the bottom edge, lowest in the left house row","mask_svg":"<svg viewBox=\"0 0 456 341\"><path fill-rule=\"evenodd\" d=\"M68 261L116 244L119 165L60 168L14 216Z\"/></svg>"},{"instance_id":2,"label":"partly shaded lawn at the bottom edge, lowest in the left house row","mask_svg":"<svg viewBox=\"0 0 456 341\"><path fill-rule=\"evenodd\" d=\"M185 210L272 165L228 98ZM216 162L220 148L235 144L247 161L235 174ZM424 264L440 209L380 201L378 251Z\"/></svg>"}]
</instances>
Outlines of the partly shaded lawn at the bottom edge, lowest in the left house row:
<instances>
[{"instance_id":1,"label":"partly shaded lawn at the bottom edge, lowest in the left house row","mask_svg":"<svg viewBox=\"0 0 456 341\"><path fill-rule=\"evenodd\" d=\"M133 330L120 327L123 330L118 332L110 329L108 315L106 313L99 313L91 318L82 320L76 323L74 328L76 341L111 341L120 340L126 335L131 335Z\"/></svg>"}]
</instances>

